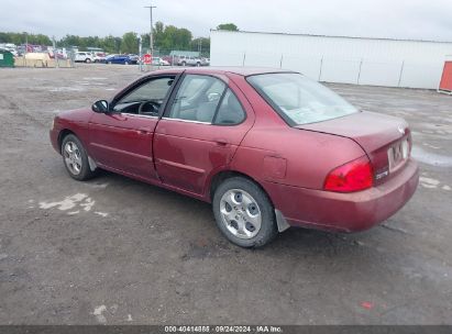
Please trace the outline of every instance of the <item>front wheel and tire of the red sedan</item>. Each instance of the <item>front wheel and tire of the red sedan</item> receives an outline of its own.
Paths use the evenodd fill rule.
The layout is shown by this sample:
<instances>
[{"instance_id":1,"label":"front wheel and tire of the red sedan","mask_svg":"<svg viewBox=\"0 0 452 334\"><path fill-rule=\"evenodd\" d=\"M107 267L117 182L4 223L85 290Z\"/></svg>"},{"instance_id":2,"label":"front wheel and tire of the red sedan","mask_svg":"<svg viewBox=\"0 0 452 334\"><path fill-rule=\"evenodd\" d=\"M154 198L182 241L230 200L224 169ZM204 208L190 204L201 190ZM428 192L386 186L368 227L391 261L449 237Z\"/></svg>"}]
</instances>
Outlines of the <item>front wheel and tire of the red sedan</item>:
<instances>
[{"instance_id":1,"label":"front wheel and tire of the red sedan","mask_svg":"<svg viewBox=\"0 0 452 334\"><path fill-rule=\"evenodd\" d=\"M88 155L81 142L73 134L68 134L62 142L63 164L73 179L85 181L96 172L89 168Z\"/></svg>"}]
</instances>

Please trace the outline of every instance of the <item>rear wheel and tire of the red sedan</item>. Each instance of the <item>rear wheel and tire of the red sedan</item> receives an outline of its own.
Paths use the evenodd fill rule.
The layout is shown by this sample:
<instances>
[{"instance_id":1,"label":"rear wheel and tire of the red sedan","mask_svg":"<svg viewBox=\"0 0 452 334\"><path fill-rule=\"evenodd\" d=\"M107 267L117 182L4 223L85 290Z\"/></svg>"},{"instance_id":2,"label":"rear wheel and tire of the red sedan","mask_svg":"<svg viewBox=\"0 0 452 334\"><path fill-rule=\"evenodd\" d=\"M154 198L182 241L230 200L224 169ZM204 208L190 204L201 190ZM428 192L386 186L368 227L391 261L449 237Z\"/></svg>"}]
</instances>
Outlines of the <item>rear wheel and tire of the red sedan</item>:
<instances>
[{"instance_id":1,"label":"rear wheel and tire of the red sedan","mask_svg":"<svg viewBox=\"0 0 452 334\"><path fill-rule=\"evenodd\" d=\"M273 204L252 180L243 177L224 180L216 189L212 207L217 226L238 246L258 248L278 233Z\"/></svg>"}]
</instances>

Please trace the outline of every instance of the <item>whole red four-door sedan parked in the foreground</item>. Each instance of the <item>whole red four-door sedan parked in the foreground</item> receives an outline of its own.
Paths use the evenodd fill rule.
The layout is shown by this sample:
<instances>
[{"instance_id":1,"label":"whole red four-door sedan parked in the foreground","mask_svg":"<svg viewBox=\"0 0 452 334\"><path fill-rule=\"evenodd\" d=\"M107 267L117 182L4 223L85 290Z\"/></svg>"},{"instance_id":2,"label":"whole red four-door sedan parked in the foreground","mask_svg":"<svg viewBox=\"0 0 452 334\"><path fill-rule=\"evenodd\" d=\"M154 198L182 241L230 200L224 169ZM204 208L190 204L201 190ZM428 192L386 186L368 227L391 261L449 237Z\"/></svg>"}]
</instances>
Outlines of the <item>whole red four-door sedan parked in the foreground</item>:
<instances>
[{"instance_id":1,"label":"whole red four-door sedan parked in the foreground","mask_svg":"<svg viewBox=\"0 0 452 334\"><path fill-rule=\"evenodd\" d=\"M58 114L51 140L76 180L102 168L211 202L242 247L289 226L370 229L419 179L404 120L282 70L154 71L111 101Z\"/></svg>"}]
</instances>

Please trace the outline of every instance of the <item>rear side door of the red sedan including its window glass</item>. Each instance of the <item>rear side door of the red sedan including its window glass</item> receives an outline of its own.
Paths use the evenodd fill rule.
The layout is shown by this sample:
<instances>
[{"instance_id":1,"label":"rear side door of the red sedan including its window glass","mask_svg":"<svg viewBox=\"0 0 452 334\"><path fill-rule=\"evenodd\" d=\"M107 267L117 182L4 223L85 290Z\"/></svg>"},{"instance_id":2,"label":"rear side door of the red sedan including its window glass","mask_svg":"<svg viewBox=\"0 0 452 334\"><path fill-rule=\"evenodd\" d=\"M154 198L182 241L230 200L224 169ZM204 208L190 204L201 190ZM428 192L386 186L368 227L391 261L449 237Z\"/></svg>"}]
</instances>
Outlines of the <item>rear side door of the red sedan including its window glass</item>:
<instances>
[{"instance_id":1,"label":"rear side door of the red sedan including its window glass","mask_svg":"<svg viewBox=\"0 0 452 334\"><path fill-rule=\"evenodd\" d=\"M156 170L165 185L202 196L206 181L231 162L254 113L228 80L196 74L179 80L154 136Z\"/></svg>"}]
</instances>

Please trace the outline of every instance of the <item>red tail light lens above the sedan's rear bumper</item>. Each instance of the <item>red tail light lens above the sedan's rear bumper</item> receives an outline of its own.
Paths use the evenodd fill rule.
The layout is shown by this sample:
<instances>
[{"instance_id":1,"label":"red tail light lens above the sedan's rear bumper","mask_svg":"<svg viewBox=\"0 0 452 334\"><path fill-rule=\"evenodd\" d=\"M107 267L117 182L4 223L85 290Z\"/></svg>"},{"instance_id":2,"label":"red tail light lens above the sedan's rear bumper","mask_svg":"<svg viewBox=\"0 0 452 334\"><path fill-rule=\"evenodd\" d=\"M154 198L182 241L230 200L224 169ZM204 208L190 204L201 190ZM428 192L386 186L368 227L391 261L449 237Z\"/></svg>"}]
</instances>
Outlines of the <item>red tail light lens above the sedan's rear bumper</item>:
<instances>
[{"instance_id":1,"label":"red tail light lens above the sedan's rear bumper","mask_svg":"<svg viewBox=\"0 0 452 334\"><path fill-rule=\"evenodd\" d=\"M367 156L346 163L330 171L323 189L338 192L353 192L371 188L374 176Z\"/></svg>"}]
</instances>

